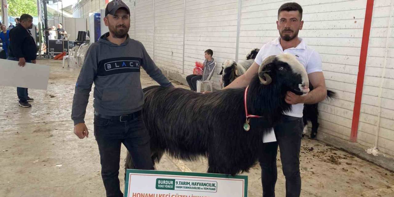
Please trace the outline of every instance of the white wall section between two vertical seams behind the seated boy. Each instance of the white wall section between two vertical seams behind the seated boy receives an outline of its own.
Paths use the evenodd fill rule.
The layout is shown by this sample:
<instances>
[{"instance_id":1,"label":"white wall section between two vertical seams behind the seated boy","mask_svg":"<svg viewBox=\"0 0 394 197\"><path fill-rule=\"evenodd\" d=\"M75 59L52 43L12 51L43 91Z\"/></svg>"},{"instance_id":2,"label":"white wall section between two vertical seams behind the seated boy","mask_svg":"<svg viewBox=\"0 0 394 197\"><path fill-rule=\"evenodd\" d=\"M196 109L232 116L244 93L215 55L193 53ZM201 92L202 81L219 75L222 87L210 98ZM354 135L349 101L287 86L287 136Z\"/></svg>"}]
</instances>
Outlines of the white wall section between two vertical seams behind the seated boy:
<instances>
[{"instance_id":1,"label":"white wall section between two vertical seams behind the seated boy","mask_svg":"<svg viewBox=\"0 0 394 197\"><path fill-rule=\"evenodd\" d=\"M192 74L195 61L204 61L204 51L214 52L217 63L212 77L220 88L221 64L235 59L238 0L186 0L184 73Z\"/></svg>"}]
</instances>

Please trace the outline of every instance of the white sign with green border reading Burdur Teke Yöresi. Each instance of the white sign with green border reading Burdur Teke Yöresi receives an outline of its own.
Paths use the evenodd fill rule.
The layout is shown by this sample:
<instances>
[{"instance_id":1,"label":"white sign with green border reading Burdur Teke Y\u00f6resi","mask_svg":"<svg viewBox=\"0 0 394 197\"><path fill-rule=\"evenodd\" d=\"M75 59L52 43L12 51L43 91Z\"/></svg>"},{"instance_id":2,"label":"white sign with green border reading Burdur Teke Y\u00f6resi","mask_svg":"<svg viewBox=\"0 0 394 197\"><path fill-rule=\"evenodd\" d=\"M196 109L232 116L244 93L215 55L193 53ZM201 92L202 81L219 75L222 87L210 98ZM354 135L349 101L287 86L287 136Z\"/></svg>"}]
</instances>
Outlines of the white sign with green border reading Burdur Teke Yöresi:
<instances>
[{"instance_id":1,"label":"white sign with green border reading Burdur Teke Y\u00f6resi","mask_svg":"<svg viewBox=\"0 0 394 197\"><path fill-rule=\"evenodd\" d=\"M126 170L125 197L247 197L247 176Z\"/></svg>"}]
</instances>

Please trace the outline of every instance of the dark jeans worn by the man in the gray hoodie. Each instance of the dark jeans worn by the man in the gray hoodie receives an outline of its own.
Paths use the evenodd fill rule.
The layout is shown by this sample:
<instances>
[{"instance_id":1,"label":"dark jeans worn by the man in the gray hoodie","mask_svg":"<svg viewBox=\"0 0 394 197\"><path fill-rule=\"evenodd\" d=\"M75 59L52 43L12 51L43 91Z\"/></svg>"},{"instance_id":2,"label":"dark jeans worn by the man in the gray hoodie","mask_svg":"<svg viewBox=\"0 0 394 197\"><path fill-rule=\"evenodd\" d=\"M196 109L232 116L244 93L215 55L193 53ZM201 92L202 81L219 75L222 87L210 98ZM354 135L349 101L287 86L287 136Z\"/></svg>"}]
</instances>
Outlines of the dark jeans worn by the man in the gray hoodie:
<instances>
[{"instance_id":1,"label":"dark jeans worn by the man in the gray hoodie","mask_svg":"<svg viewBox=\"0 0 394 197\"><path fill-rule=\"evenodd\" d=\"M149 133L143 117L126 122L111 121L95 115L94 135L99 145L101 177L107 197L123 197L119 186L121 144L130 152L136 169L152 170Z\"/></svg>"}]
</instances>

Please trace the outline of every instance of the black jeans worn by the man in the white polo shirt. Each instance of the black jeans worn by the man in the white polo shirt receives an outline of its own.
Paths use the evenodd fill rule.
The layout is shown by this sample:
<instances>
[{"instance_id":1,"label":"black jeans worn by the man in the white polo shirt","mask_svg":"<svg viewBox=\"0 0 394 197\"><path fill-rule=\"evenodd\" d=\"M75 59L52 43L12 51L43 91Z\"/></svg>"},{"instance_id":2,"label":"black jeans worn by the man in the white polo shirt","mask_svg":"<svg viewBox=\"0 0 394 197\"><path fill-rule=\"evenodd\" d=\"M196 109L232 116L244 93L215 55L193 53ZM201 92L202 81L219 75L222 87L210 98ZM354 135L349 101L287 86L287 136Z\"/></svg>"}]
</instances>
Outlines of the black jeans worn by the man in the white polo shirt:
<instances>
[{"instance_id":1,"label":"black jeans worn by the man in the white polo shirt","mask_svg":"<svg viewBox=\"0 0 394 197\"><path fill-rule=\"evenodd\" d=\"M303 127L302 118L283 115L279 124L274 127L277 141L262 143L259 162L263 197L275 197L278 145L281 151L282 171L286 178L286 197L300 196L299 152Z\"/></svg>"}]
</instances>

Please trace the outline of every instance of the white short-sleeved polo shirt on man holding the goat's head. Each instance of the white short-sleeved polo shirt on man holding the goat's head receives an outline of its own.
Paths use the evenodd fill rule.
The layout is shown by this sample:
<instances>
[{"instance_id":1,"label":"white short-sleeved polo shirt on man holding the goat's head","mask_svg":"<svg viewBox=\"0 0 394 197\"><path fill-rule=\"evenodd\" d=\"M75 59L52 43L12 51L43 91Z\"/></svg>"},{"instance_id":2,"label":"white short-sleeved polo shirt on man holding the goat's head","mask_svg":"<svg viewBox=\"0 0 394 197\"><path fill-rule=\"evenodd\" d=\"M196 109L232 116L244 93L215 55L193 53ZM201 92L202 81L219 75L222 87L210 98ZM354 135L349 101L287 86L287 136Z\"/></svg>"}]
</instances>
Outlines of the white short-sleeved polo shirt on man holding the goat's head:
<instances>
[{"instance_id":1,"label":"white short-sleeved polo shirt on man holding the goat's head","mask_svg":"<svg viewBox=\"0 0 394 197\"><path fill-rule=\"evenodd\" d=\"M296 55L296 58L302 65L304 65L308 74L312 72L322 72L322 58L320 58L319 53L313 48L310 48L302 38L299 38L301 43L299 43L296 48L288 48L286 50L283 50L279 39L280 37L262 46L255 58L255 62L258 65L261 65L264 59L268 56L290 53ZM303 117L303 109L303 103L295 104L292 105L292 110L290 112L284 114L293 117Z\"/></svg>"}]
</instances>

